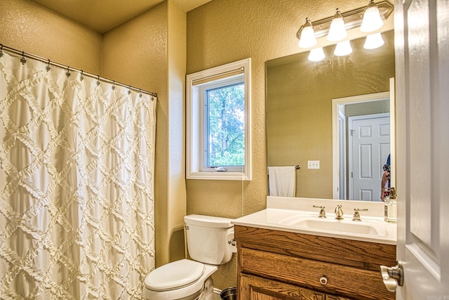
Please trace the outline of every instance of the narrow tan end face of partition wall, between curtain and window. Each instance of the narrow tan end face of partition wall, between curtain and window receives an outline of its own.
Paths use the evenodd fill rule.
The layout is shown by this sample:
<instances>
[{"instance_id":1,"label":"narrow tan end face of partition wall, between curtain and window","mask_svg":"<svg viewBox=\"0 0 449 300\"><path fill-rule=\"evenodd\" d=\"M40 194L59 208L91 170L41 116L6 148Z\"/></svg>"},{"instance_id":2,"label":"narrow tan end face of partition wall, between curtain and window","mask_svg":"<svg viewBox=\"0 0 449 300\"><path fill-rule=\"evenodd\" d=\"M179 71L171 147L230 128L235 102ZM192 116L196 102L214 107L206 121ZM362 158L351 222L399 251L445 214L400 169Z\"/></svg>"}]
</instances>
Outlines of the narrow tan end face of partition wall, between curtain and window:
<instances>
[{"instance_id":1,"label":"narrow tan end face of partition wall, between curtain and window","mask_svg":"<svg viewBox=\"0 0 449 300\"><path fill-rule=\"evenodd\" d=\"M168 0L168 118L170 145L168 150L168 222L170 247L168 261L185 258L184 216L185 185L185 74L187 15ZM158 178L159 179L159 178ZM156 211L157 213L157 211ZM157 230L157 228L156 228ZM157 252L158 255L161 251ZM156 255L157 259L157 255ZM161 259L158 259L160 262Z\"/></svg>"}]
</instances>

